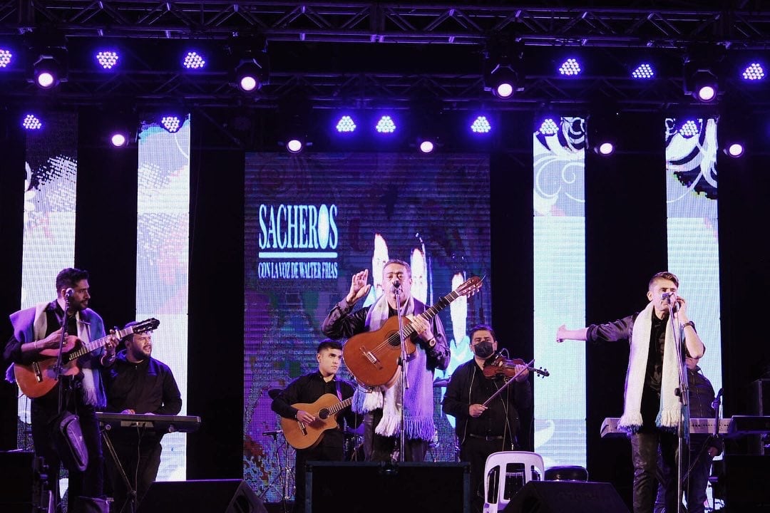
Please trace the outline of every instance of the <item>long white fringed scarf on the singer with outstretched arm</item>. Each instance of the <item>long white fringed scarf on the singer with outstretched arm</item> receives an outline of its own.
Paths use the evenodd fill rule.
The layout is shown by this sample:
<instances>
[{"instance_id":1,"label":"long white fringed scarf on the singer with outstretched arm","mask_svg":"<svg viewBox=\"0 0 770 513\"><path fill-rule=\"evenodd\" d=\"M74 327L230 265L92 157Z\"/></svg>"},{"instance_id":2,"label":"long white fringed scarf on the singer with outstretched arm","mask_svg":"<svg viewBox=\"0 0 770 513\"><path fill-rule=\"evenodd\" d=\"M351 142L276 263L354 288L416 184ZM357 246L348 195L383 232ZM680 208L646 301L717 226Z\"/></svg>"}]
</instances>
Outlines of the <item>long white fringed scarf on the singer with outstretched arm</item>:
<instances>
[{"instance_id":1,"label":"long white fringed scarf on the singer with outstretched arm","mask_svg":"<svg viewBox=\"0 0 770 513\"><path fill-rule=\"evenodd\" d=\"M650 331L654 304L647 308L634 321L631 333L631 355L626 372L625 402L623 416L618 421L618 428L628 433L639 431L642 425L641 395L644 391L644 376L647 372L647 358L650 354ZM665 343L663 345L663 369L661 381L661 405L655 424L666 430L675 430L679 425L681 405L675 390L679 385L679 367L676 356L676 341L671 323L666 323Z\"/></svg>"}]
</instances>

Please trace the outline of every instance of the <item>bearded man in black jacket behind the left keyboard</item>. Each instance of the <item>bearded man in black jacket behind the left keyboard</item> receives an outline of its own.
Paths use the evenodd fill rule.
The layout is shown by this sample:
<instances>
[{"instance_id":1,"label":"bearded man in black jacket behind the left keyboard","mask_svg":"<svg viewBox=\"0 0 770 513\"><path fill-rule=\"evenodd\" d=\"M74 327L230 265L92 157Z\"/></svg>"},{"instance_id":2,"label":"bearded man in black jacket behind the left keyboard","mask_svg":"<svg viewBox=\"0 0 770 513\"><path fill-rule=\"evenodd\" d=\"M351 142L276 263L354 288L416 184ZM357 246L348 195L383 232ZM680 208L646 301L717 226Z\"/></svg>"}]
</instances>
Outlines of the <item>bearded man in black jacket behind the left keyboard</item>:
<instances>
[{"instance_id":1,"label":"bearded man in black jacket behind the left keyboard","mask_svg":"<svg viewBox=\"0 0 770 513\"><path fill-rule=\"evenodd\" d=\"M126 328L136 325L129 322ZM152 331L132 333L122 340L126 348L118 353L115 365L105 374L107 411L129 414L176 415L182 409L182 395L168 365L152 358ZM115 453L132 479L136 504L142 501L158 475L165 431L137 428L119 429L109 435ZM107 471L112 485L115 513L131 511L126 483L112 458L107 458Z\"/></svg>"}]
</instances>

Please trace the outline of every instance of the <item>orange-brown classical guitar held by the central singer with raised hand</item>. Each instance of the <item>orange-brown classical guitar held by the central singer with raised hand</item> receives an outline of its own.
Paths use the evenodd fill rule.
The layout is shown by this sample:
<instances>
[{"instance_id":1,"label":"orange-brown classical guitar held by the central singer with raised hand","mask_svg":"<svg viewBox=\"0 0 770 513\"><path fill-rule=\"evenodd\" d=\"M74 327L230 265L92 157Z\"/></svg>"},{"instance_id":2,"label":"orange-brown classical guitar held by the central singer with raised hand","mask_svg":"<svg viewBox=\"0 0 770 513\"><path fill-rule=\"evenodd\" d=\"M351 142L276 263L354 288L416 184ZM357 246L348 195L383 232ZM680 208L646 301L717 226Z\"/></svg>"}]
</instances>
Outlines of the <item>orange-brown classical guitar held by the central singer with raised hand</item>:
<instances>
[{"instance_id":1,"label":"orange-brown classical guitar held by the central singer with raised hand","mask_svg":"<svg viewBox=\"0 0 770 513\"><path fill-rule=\"evenodd\" d=\"M446 308L452 301L461 295L470 297L481 288L484 278L474 276L454 291L440 298L439 301L426 311L417 315L426 321L430 321L435 315ZM414 328L410 319L402 317L402 331L407 355L415 351L414 343L410 340ZM367 386L386 385L393 386L397 379L398 360L401 355L401 336L398 331L398 317L393 316L375 331L365 331L348 338L343 346L343 359L345 365L355 376L356 380Z\"/></svg>"}]
</instances>

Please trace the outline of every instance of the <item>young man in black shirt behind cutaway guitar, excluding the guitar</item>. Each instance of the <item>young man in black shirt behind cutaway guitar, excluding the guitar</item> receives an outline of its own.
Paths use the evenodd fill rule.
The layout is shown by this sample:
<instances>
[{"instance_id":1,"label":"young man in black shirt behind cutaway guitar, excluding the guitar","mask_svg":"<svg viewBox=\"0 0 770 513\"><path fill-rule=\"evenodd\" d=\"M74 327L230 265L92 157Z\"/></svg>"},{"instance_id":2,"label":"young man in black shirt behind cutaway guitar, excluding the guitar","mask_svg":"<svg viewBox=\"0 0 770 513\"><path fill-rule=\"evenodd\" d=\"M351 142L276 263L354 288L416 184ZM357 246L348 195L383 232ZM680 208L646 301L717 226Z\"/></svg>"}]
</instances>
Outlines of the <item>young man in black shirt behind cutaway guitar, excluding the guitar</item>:
<instances>
[{"instance_id":1,"label":"young man in black shirt behind cutaway guitar, excluding the guitar","mask_svg":"<svg viewBox=\"0 0 770 513\"><path fill-rule=\"evenodd\" d=\"M312 425L316 422L317 411L304 411L295 408L297 403L311 404L324 394L336 395L340 401L353 396L355 388L349 382L337 378L336 373L342 363L342 345L340 342L326 339L318 345L316 351L318 370L296 378L276 398L271 408L283 418L292 418ZM317 445L305 449L297 449L294 463L296 493L294 513L305 511L305 464L307 461L343 461L345 435L343 419L348 425L357 427L360 418L350 411L343 410L343 418L337 418L336 428L323 431Z\"/></svg>"}]
</instances>

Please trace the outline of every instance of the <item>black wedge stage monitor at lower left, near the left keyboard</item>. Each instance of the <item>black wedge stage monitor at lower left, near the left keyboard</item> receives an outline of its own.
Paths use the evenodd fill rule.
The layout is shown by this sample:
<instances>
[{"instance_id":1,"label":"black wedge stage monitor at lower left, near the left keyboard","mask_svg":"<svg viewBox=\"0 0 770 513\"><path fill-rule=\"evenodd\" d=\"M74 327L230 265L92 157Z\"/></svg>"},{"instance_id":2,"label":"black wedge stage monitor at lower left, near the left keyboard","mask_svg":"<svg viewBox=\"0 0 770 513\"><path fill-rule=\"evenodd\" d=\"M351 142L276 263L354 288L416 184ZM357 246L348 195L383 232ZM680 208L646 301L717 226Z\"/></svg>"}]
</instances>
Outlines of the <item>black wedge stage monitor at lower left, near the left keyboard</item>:
<instances>
[{"instance_id":1,"label":"black wedge stage monitor at lower left, near the left keyboard","mask_svg":"<svg viewBox=\"0 0 770 513\"><path fill-rule=\"evenodd\" d=\"M243 479L156 481L136 513L267 513Z\"/></svg>"}]
</instances>

